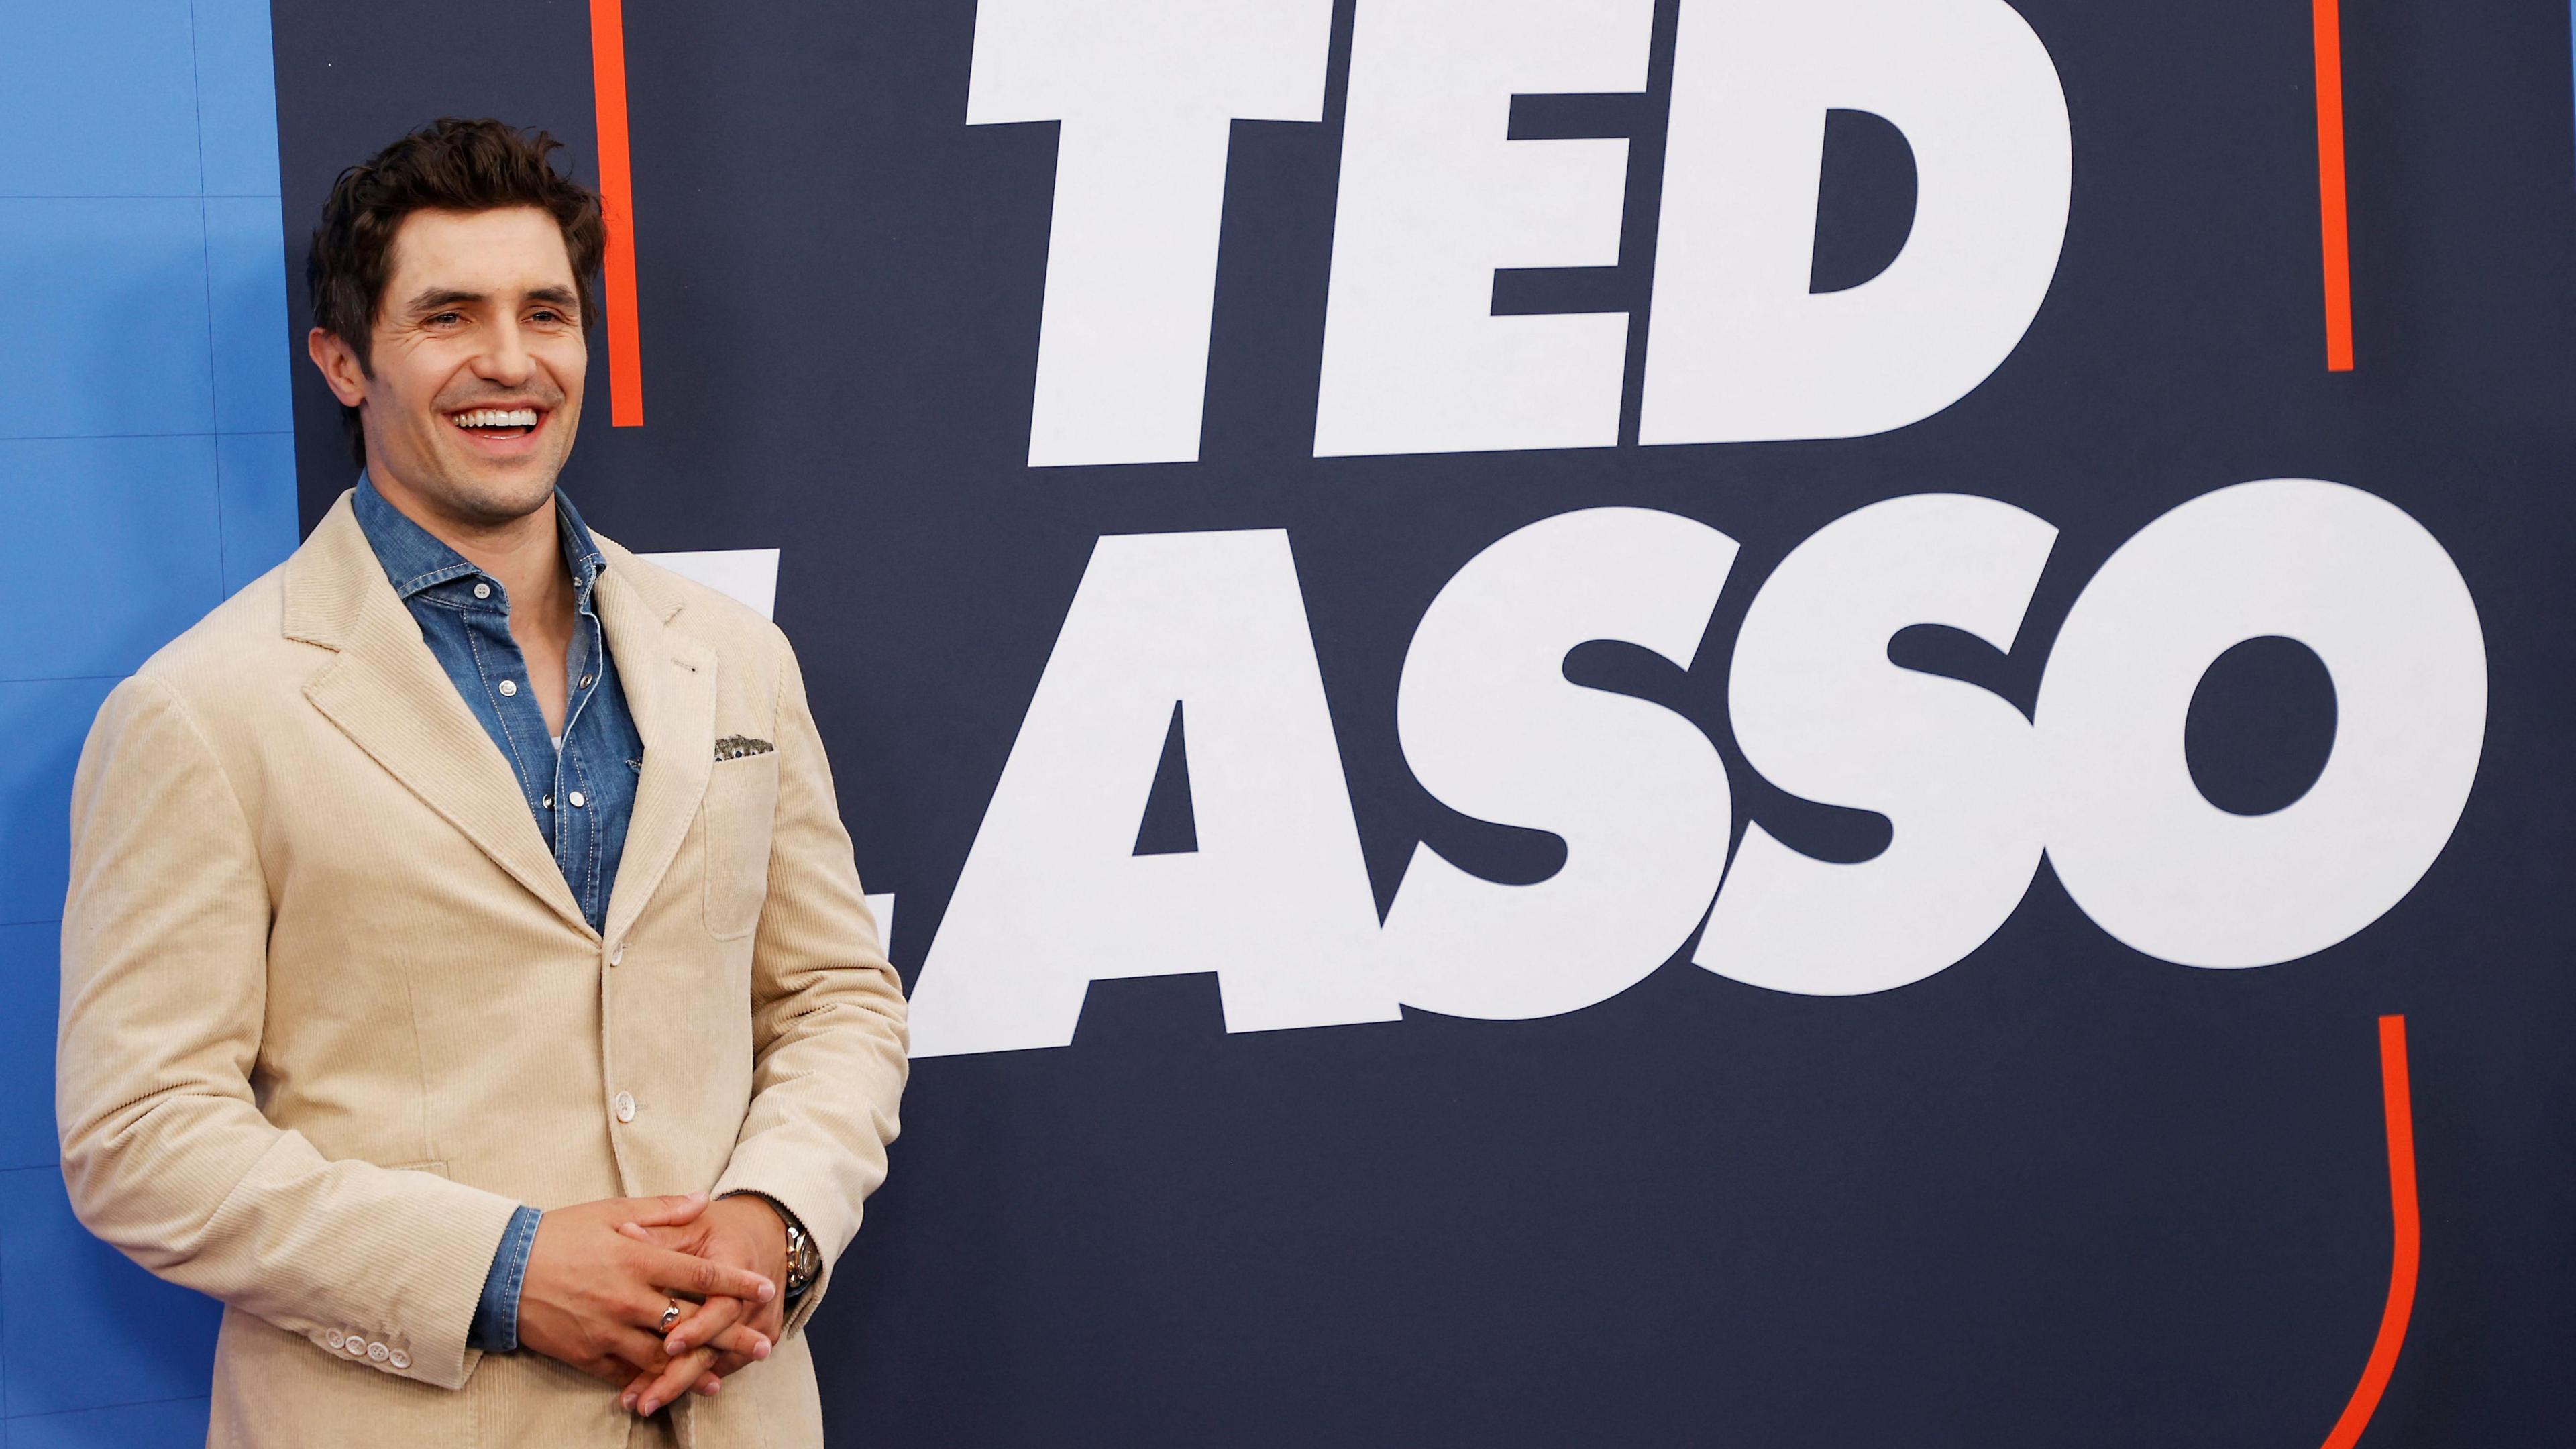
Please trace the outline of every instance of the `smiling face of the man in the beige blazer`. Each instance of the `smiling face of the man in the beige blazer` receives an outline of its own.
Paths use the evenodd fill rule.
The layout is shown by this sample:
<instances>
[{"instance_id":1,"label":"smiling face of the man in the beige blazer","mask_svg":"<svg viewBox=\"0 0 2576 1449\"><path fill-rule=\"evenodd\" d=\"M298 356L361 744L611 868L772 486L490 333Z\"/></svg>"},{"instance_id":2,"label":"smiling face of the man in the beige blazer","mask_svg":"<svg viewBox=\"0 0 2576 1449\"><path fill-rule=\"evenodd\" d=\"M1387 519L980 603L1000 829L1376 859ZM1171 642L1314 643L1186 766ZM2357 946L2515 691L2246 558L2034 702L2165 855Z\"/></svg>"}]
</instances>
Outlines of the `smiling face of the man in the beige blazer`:
<instances>
[{"instance_id":1,"label":"smiling face of the man in the beige blazer","mask_svg":"<svg viewBox=\"0 0 2576 1449\"><path fill-rule=\"evenodd\" d=\"M533 513L572 451L590 366L562 229L536 206L412 211L376 307L374 374L330 333L314 361L361 407L379 485L461 523Z\"/></svg>"}]
</instances>

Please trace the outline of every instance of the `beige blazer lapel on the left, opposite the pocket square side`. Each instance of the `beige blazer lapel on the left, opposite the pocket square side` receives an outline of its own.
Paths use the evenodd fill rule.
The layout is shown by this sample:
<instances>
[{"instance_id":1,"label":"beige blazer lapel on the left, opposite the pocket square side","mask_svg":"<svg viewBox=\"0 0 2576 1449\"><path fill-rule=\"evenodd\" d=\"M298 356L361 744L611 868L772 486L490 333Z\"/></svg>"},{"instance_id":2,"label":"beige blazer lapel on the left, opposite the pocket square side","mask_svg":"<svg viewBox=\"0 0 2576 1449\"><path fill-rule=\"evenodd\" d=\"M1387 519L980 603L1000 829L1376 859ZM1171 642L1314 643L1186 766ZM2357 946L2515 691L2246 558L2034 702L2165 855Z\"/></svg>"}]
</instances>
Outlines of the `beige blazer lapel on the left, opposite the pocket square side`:
<instances>
[{"instance_id":1,"label":"beige blazer lapel on the left, opposite the pocket square side","mask_svg":"<svg viewBox=\"0 0 2576 1449\"><path fill-rule=\"evenodd\" d=\"M590 933L510 763L420 642L348 495L286 565L286 637L337 650L304 686L379 766L569 926Z\"/></svg>"}]
</instances>

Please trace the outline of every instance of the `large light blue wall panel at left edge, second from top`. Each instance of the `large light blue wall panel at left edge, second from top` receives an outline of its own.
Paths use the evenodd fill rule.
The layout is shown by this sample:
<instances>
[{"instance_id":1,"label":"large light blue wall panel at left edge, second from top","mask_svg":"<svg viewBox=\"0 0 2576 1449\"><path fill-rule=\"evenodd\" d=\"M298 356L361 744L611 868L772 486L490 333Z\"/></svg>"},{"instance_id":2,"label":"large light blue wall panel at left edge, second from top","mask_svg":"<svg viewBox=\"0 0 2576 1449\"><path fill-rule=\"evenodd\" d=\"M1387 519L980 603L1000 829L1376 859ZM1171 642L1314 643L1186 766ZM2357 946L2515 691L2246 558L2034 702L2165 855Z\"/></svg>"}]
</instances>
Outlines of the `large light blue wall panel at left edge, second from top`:
<instances>
[{"instance_id":1,"label":"large light blue wall panel at left edge, second from top","mask_svg":"<svg viewBox=\"0 0 2576 1449\"><path fill-rule=\"evenodd\" d=\"M0 199L0 438L214 431L204 201Z\"/></svg>"}]
</instances>

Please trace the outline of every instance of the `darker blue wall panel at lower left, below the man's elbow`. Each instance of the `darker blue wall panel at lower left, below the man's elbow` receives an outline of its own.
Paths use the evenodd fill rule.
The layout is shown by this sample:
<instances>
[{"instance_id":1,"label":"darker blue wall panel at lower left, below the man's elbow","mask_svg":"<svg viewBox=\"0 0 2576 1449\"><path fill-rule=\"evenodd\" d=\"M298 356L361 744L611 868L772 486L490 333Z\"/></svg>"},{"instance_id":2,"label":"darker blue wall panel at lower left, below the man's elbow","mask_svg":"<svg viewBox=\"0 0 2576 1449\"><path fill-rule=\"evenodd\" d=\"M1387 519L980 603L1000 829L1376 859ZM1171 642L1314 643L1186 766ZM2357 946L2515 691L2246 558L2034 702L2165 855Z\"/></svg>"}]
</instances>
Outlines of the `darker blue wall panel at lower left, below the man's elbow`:
<instances>
[{"instance_id":1,"label":"darker blue wall panel at lower left, below the man's elbow","mask_svg":"<svg viewBox=\"0 0 2576 1449\"><path fill-rule=\"evenodd\" d=\"M222 1307L137 1269L72 1217L54 1168L0 1173L8 1413L196 1397Z\"/></svg>"}]
</instances>

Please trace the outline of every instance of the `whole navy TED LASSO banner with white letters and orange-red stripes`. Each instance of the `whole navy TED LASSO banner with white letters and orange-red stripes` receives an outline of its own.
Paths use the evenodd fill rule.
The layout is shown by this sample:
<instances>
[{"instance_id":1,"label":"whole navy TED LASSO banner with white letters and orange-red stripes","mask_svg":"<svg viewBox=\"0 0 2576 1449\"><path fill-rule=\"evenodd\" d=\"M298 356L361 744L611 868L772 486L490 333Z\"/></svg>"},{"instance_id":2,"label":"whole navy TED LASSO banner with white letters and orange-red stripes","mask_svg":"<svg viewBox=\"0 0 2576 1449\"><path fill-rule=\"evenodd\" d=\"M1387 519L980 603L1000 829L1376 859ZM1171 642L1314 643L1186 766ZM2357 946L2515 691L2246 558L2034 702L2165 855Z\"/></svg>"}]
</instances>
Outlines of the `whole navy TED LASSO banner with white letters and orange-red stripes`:
<instances>
[{"instance_id":1,"label":"whole navy TED LASSO banner with white letters and orange-red stripes","mask_svg":"<svg viewBox=\"0 0 2576 1449\"><path fill-rule=\"evenodd\" d=\"M567 142L567 485L775 557L914 1011L835 1441L2563 1439L2563 10L276 54L291 266L420 121Z\"/></svg>"}]
</instances>

